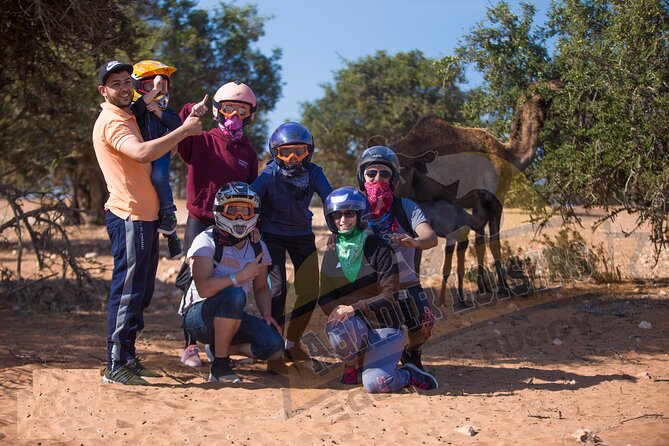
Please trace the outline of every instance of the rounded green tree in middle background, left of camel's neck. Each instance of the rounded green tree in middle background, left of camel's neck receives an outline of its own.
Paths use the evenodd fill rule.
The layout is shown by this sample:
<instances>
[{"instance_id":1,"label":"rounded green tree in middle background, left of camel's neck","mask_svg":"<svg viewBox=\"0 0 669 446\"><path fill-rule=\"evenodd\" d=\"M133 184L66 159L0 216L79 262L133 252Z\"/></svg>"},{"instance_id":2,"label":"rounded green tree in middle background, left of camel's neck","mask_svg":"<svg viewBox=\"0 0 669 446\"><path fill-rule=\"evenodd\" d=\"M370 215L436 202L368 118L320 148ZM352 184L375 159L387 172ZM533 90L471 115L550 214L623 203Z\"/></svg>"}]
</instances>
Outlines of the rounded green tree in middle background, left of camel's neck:
<instances>
[{"instance_id":1,"label":"rounded green tree in middle background, left of camel's neck","mask_svg":"<svg viewBox=\"0 0 669 446\"><path fill-rule=\"evenodd\" d=\"M324 166L335 185L355 184L358 154L404 136L424 115L459 121L464 95L443 88L435 61L420 51L345 61L324 96L303 104L302 123L313 133Z\"/></svg>"}]
</instances>

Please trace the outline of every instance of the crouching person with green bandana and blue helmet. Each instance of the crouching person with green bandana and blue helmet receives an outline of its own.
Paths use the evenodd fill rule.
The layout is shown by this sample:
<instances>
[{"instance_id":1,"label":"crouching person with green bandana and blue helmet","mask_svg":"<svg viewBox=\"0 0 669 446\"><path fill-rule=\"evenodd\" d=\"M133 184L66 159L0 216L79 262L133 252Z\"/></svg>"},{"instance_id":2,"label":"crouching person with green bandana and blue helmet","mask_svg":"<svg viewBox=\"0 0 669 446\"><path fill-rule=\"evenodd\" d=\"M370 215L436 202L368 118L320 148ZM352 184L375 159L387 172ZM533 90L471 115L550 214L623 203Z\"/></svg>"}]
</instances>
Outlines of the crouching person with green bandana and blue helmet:
<instances>
[{"instance_id":1,"label":"crouching person with green bandana and blue helmet","mask_svg":"<svg viewBox=\"0 0 669 446\"><path fill-rule=\"evenodd\" d=\"M410 363L398 367L406 342L393 298L400 286L398 265L383 238L365 231L368 213L367 199L352 187L335 190L325 203L333 235L323 255L319 305L328 315L330 344L344 361L341 382L359 384L361 375L370 393L435 389L432 375Z\"/></svg>"}]
</instances>

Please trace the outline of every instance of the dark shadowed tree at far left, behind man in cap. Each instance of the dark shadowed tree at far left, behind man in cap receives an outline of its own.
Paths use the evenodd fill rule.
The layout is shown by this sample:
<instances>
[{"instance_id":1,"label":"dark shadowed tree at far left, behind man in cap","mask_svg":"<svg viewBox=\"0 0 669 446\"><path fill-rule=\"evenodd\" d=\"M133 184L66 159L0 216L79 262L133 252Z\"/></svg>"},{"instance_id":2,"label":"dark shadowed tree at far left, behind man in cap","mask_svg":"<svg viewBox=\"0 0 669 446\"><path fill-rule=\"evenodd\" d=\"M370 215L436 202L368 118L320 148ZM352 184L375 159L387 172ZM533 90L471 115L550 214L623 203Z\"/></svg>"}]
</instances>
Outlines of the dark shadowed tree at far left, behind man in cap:
<instances>
[{"instance_id":1,"label":"dark shadowed tree at far left, behind man in cap","mask_svg":"<svg viewBox=\"0 0 669 446\"><path fill-rule=\"evenodd\" d=\"M88 159L99 102L92 73L116 51L132 55L138 50L143 34L132 4L73 0L63 8L62 2L49 0L3 3L0 173L4 181L42 190L96 186L95 178L101 176L90 175L97 163ZM68 173L77 166L85 166L78 175L70 175L78 185L67 184ZM102 212L100 205L98 213Z\"/></svg>"}]
</instances>

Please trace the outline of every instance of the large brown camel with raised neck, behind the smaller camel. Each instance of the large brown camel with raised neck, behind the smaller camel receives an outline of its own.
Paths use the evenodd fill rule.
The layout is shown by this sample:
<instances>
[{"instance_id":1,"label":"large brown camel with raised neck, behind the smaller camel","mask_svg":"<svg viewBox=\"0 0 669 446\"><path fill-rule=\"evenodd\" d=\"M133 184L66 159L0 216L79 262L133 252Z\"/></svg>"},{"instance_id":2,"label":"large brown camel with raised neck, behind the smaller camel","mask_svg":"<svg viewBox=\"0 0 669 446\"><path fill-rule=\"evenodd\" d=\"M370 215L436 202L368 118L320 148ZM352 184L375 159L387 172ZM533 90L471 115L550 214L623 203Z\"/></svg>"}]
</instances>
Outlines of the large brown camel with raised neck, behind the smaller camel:
<instances>
[{"instance_id":1,"label":"large brown camel with raised neck, behind the smaller camel","mask_svg":"<svg viewBox=\"0 0 669 446\"><path fill-rule=\"evenodd\" d=\"M548 83L550 90L561 87ZM536 86L536 84L534 84ZM502 267L499 232L504 197L514 175L534 159L539 146L549 101L531 92L516 113L513 131L506 143L480 128L457 127L443 119L422 118L409 133L390 144L401 165L397 195L417 203L446 200L472 209L476 232L478 291L491 292L483 280L485 268L485 227L498 278L498 293L511 295Z\"/></svg>"}]
</instances>

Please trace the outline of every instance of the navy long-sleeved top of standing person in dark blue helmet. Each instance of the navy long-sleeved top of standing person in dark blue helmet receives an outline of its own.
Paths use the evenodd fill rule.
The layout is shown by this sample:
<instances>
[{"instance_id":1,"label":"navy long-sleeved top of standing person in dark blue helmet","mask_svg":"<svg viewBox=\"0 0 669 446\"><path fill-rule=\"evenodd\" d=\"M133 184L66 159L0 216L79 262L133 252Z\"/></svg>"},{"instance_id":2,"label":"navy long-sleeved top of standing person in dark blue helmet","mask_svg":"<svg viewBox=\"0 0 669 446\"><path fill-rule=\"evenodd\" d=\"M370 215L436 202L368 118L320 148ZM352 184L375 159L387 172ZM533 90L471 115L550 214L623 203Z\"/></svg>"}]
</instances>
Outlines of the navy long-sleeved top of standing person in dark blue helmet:
<instances>
[{"instance_id":1,"label":"navy long-sleeved top of standing person in dark blue helmet","mask_svg":"<svg viewBox=\"0 0 669 446\"><path fill-rule=\"evenodd\" d=\"M274 160L267 163L265 170L251 184L260 196L260 232L286 236L313 233L311 218L314 214L309 210L311 197L317 193L325 202L332 186L320 166L309 163L307 167L309 186L305 191L286 183Z\"/></svg>"}]
</instances>

